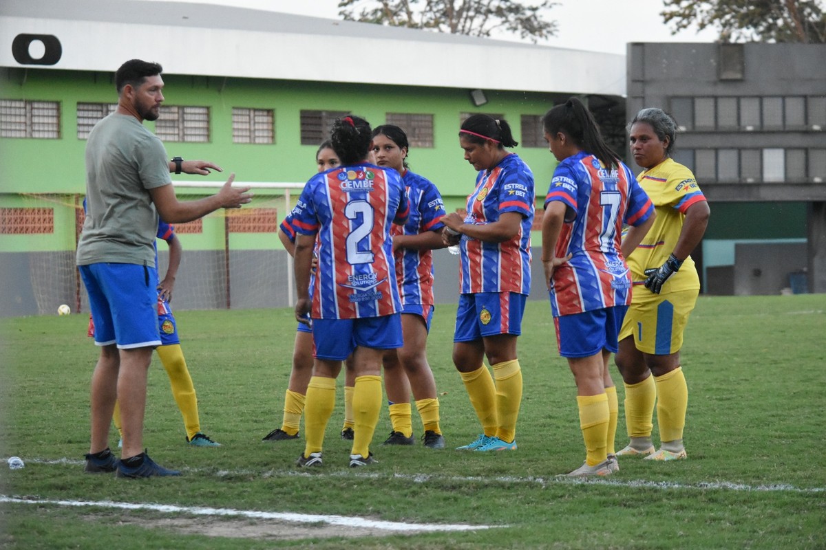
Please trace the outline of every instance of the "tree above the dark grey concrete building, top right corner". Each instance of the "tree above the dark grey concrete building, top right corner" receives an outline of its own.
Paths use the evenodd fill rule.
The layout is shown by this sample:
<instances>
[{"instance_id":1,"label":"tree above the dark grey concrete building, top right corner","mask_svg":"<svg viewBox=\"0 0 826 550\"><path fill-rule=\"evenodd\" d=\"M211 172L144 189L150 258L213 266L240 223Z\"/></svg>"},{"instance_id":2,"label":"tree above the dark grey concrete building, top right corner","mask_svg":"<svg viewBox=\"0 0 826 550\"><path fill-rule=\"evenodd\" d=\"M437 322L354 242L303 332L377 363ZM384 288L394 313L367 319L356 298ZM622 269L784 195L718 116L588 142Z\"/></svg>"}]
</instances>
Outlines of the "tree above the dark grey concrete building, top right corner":
<instances>
[{"instance_id":1,"label":"tree above the dark grey concrete building, top right corner","mask_svg":"<svg viewBox=\"0 0 826 550\"><path fill-rule=\"evenodd\" d=\"M822 0L665 0L660 15L674 35L696 25L716 27L723 42L826 42Z\"/></svg>"}]
</instances>

